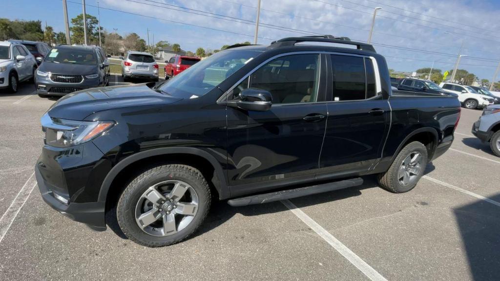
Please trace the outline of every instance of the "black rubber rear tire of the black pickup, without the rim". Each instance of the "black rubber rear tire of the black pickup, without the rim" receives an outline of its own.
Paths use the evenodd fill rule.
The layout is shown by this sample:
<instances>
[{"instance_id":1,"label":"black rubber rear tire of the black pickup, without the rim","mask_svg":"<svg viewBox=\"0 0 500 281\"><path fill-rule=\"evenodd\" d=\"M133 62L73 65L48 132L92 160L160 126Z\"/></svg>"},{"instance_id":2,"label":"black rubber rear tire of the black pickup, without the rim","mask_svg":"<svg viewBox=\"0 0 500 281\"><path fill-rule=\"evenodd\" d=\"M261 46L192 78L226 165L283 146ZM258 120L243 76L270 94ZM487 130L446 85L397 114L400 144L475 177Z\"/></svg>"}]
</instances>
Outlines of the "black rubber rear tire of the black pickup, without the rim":
<instances>
[{"instance_id":1,"label":"black rubber rear tire of the black pickup, without the rim","mask_svg":"<svg viewBox=\"0 0 500 281\"><path fill-rule=\"evenodd\" d=\"M403 185L398 178L398 172L402 166L404 159L408 156L411 156L412 153L413 154L420 153L421 166L417 174L414 175L411 181L408 182L407 185ZM389 169L386 172L378 174L378 184L390 192L394 193L407 192L413 189L413 187L415 187L416 183L423 175L426 164L427 164L427 149L425 148L425 146L419 141L410 142L406 146L404 146L403 149L401 149L401 151L399 151L396 158L390 165Z\"/></svg>"}]
</instances>

